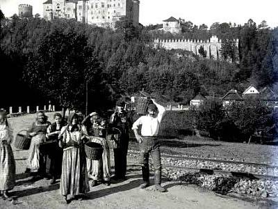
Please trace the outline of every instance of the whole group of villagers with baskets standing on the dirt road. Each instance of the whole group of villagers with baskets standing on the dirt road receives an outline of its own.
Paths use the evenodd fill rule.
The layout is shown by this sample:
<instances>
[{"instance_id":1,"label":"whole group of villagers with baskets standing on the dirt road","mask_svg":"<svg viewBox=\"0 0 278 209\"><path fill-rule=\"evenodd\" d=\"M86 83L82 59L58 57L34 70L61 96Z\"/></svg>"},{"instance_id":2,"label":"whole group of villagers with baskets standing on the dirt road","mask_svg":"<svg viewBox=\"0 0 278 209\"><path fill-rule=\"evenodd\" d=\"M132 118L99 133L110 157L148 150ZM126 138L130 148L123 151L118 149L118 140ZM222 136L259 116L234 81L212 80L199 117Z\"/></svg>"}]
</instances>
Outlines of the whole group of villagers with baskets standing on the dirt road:
<instances>
[{"instance_id":1,"label":"whole group of villagers with baskets standing on the dirt road","mask_svg":"<svg viewBox=\"0 0 278 209\"><path fill-rule=\"evenodd\" d=\"M37 113L35 122L27 132L31 145L27 160L26 173L33 178L48 178L50 184L60 177L60 192L65 202L82 198L91 186L98 183L111 184L111 160L108 141L113 141L115 159L115 180L126 179L126 155L129 147L129 131L132 128L140 147L143 184L149 186L149 154L154 162L154 183L159 192L165 192L161 186L161 156L158 144L158 130L165 108L153 100L147 109L147 115L133 116L124 109L124 102L117 103L111 118L104 120L97 112L92 112L80 121L80 116L72 113L67 123L61 114L54 114L54 123L49 123L43 111ZM113 132L112 130L119 130ZM139 131L140 130L140 131ZM13 141L13 129L6 118L6 111L0 110L0 191L8 198L8 191L15 186L15 158L10 144ZM91 160L85 155L87 142L100 144L104 151L100 160ZM47 143L51 142L51 143ZM48 145L48 146L47 146ZM51 145L51 146L49 146ZM43 149L42 149L43 148Z\"/></svg>"}]
</instances>

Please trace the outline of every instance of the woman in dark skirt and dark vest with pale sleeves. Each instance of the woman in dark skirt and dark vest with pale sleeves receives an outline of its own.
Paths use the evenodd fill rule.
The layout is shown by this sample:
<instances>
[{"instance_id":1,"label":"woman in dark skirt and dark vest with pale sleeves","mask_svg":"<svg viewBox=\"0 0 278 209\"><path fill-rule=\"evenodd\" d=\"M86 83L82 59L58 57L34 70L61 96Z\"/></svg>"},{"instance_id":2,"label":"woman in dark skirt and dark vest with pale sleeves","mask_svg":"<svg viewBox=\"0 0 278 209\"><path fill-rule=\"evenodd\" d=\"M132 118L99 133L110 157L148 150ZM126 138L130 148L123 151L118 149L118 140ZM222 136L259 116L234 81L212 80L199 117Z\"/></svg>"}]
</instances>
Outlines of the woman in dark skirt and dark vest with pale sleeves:
<instances>
[{"instance_id":1,"label":"woman in dark skirt and dark vest with pale sleeves","mask_svg":"<svg viewBox=\"0 0 278 209\"><path fill-rule=\"evenodd\" d=\"M61 173L63 150L58 146L58 135L65 126L63 117L61 114L54 114L54 123L47 128L47 141L54 141L54 144L50 147L51 152L46 156L46 173L51 177L50 184L56 183L56 178Z\"/></svg>"}]
</instances>

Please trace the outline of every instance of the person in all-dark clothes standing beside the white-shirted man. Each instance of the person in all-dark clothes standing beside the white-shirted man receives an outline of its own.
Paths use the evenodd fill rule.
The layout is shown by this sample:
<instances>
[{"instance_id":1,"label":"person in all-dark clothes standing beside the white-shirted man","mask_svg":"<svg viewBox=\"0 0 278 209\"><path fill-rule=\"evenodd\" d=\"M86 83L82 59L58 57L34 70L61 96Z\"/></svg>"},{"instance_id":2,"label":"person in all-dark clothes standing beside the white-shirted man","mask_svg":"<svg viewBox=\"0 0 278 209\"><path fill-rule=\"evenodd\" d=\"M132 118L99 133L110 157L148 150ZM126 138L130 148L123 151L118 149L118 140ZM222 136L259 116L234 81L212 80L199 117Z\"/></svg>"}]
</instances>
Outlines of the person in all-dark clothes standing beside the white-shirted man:
<instances>
[{"instance_id":1,"label":"person in all-dark clothes standing beside the white-shirted man","mask_svg":"<svg viewBox=\"0 0 278 209\"><path fill-rule=\"evenodd\" d=\"M117 148L114 148L115 180L126 178L126 155L129 148L129 130L131 129L131 117L126 111L125 102L117 102L115 113L110 118L112 127L120 130L120 138L117 141Z\"/></svg>"}]
</instances>

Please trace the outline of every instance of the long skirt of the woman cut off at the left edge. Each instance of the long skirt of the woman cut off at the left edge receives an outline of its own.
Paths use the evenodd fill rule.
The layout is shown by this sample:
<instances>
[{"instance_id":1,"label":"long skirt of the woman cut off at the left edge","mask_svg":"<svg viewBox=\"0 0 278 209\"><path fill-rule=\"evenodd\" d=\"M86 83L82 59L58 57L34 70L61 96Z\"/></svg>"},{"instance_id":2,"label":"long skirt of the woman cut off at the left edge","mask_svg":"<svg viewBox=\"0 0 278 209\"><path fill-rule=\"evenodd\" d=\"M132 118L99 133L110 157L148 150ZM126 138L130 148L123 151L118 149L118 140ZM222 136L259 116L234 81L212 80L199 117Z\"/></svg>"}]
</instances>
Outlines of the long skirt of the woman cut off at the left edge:
<instances>
[{"instance_id":1,"label":"long skirt of the woman cut off at the left edge","mask_svg":"<svg viewBox=\"0 0 278 209\"><path fill-rule=\"evenodd\" d=\"M10 144L0 145L0 190L15 187L15 158Z\"/></svg>"}]
</instances>

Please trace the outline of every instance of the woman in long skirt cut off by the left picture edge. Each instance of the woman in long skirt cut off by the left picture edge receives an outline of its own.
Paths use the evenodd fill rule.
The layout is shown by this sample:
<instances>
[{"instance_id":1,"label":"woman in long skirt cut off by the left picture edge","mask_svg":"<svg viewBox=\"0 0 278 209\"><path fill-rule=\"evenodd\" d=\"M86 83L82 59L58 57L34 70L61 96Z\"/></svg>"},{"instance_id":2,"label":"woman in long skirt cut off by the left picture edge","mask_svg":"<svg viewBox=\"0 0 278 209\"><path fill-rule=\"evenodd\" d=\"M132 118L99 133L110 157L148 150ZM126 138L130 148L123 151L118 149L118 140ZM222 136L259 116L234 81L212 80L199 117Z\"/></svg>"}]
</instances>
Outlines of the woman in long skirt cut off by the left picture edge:
<instances>
[{"instance_id":1,"label":"woman in long skirt cut off by the left picture edge","mask_svg":"<svg viewBox=\"0 0 278 209\"><path fill-rule=\"evenodd\" d=\"M6 118L6 111L0 110L0 192L8 198L8 191L15 187L15 158L10 144L13 129Z\"/></svg>"}]
</instances>

